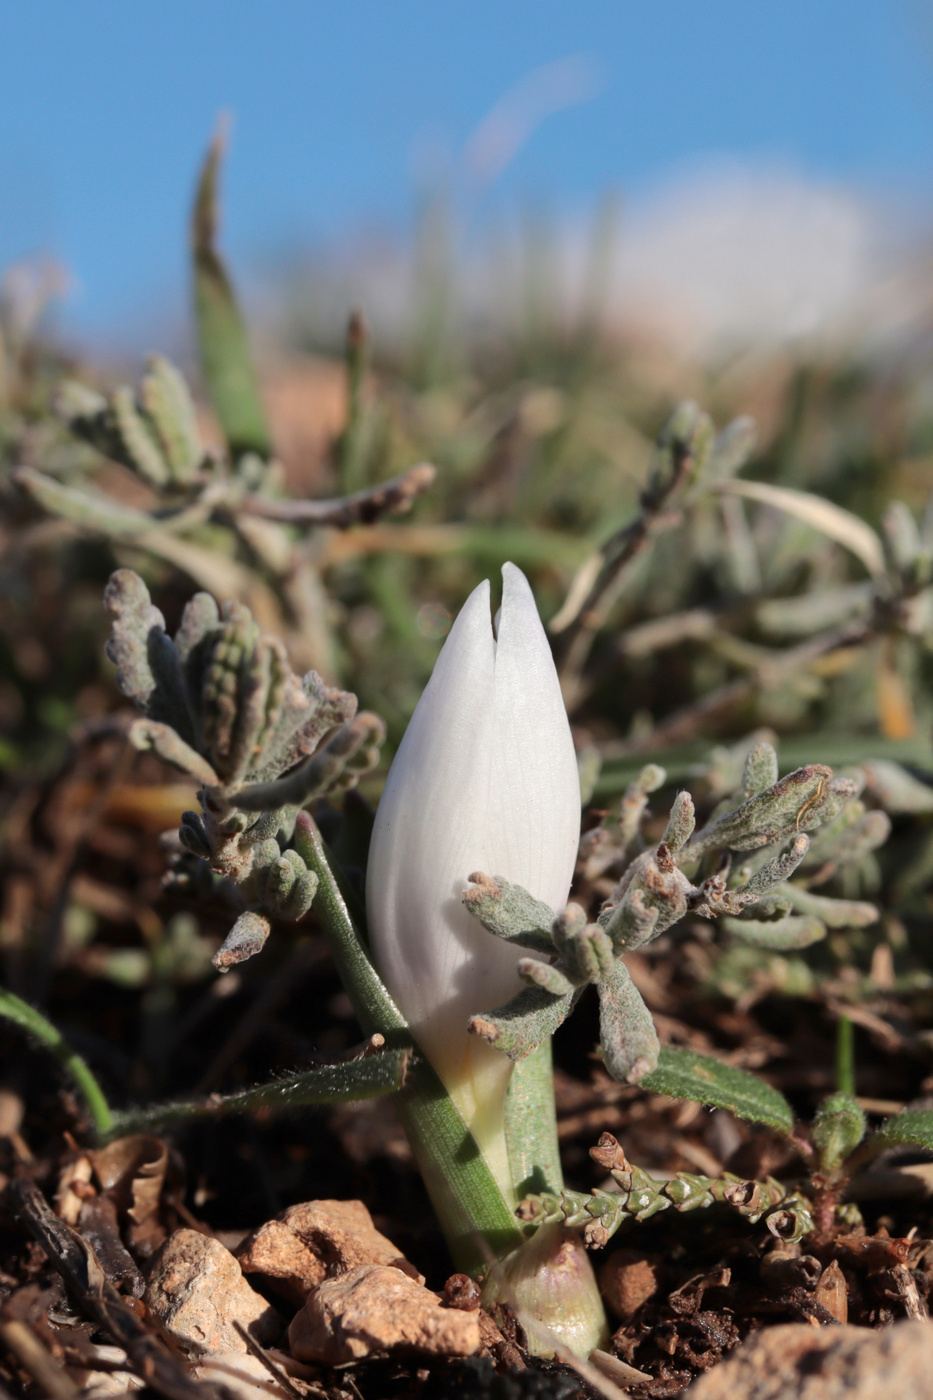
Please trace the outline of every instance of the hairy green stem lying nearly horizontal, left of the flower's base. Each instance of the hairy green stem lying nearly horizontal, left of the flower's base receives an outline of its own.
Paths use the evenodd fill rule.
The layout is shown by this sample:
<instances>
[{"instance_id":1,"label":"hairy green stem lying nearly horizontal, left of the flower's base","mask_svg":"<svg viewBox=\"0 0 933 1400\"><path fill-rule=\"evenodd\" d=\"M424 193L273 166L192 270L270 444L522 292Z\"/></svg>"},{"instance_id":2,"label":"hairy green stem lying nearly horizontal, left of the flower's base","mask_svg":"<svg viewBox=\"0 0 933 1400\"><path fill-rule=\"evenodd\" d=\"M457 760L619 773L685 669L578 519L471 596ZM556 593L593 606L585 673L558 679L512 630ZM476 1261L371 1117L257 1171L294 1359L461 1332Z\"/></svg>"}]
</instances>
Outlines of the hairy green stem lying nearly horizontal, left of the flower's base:
<instances>
[{"instance_id":1,"label":"hairy green stem lying nearly horizontal, left of the flower's base","mask_svg":"<svg viewBox=\"0 0 933 1400\"><path fill-rule=\"evenodd\" d=\"M326 1064L286 1079L272 1079L237 1093L212 1093L206 1099L156 1103L113 1114L108 1137L151 1133L189 1119L226 1117L252 1109L298 1109L318 1103L347 1103L394 1093L403 1082L410 1050L385 1050L364 1060Z\"/></svg>"}]
</instances>

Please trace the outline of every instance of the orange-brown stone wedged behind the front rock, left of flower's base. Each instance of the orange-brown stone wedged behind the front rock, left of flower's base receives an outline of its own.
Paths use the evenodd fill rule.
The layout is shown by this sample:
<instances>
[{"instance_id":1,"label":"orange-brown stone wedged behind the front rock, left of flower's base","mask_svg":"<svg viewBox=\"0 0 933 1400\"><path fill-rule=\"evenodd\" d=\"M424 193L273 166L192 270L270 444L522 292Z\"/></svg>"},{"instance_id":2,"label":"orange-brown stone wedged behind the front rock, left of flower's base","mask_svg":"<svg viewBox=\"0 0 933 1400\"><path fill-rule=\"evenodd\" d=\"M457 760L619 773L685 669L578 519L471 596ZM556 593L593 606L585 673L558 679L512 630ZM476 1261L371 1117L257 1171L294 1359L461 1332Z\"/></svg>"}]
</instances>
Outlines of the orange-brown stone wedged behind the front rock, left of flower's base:
<instances>
[{"instance_id":1,"label":"orange-brown stone wedged behind the front rock, left of flower's base","mask_svg":"<svg viewBox=\"0 0 933 1400\"><path fill-rule=\"evenodd\" d=\"M360 1264L384 1264L424 1282L380 1235L363 1201L304 1201L261 1225L235 1250L244 1274L261 1274L296 1306L325 1278Z\"/></svg>"}]
</instances>

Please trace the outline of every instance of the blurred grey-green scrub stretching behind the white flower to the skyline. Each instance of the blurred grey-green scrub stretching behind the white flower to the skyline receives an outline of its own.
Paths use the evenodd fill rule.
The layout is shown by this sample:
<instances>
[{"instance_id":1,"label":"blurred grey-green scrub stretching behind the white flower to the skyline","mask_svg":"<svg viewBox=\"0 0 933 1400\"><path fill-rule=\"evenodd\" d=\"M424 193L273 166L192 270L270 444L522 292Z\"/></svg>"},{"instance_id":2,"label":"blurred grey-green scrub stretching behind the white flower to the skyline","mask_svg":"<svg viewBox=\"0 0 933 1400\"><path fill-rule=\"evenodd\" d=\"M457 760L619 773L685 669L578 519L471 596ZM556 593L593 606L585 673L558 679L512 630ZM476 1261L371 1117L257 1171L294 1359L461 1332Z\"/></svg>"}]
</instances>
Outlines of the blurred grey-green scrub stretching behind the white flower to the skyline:
<instances>
[{"instance_id":1,"label":"blurred grey-green scrub stretching behind the white flower to the skyline","mask_svg":"<svg viewBox=\"0 0 933 1400\"><path fill-rule=\"evenodd\" d=\"M6 283L7 980L39 995L56 967L74 965L136 988L150 1085L221 995L182 991L210 976L223 916L196 924L158 893L156 836L192 805L192 787L120 742L101 606L113 568L139 570L172 630L196 588L247 603L298 669L314 666L385 720L388 762L464 598L510 559L552 630L590 827L612 820L647 759L667 770L668 798L688 784L714 809L740 788L748 736L762 732L782 773L855 771L864 802L894 819L887 847L821 886L876 899L880 924L831 930L806 955L692 931L677 976L692 994L745 1005L778 991L850 1009L897 991L916 1009L909 1039L923 1058L933 319L897 351L866 339L848 351L686 364L602 315L607 206L576 311L556 293L546 223L530 221L520 255L499 269L511 311L492 328L464 309L434 203L409 322L389 343L363 311L335 346L307 281L259 340L219 248L220 151L191 227L196 371L181 377L164 360L141 375L105 371L49 332L41 279ZM366 780L364 797L380 784ZM647 840L668 808L658 798L658 816L647 812ZM111 882L87 872L88 843ZM130 858L136 883L119 889L113 872ZM300 941L289 956L314 960L315 946ZM643 980L670 946L653 946Z\"/></svg>"}]
</instances>

